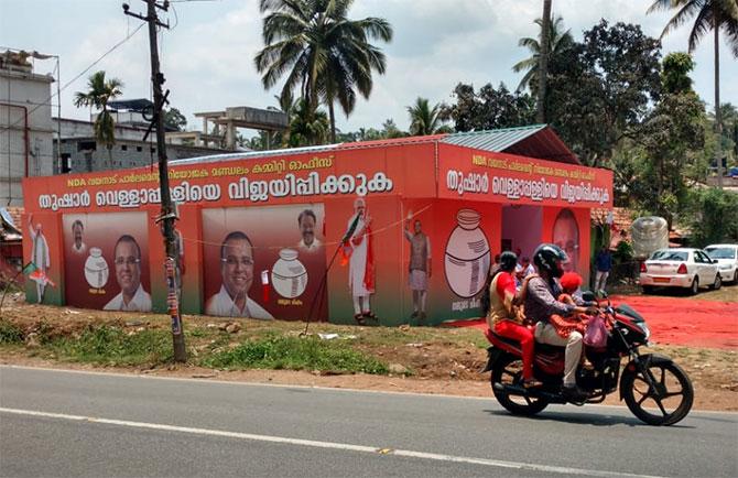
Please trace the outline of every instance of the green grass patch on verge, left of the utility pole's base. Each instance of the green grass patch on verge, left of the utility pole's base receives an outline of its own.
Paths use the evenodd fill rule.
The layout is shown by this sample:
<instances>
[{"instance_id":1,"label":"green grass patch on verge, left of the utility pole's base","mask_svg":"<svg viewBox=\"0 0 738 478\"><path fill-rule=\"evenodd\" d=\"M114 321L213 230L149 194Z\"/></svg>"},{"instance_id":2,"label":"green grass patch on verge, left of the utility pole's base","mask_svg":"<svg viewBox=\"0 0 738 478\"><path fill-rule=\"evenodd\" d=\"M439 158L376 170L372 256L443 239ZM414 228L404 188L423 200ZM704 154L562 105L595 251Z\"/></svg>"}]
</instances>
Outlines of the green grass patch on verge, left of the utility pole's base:
<instances>
[{"instance_id":1,"label":"green grass patch on verge, left of the utility pole's base","mask_svg":"<svg viewBox=\"0 0 738 478\"><path fill-rule=\"evenodd\" d=\"M164 330L129 334L102 325L85 330L79 338L56 338L50 347L62 359L106 366L158 365L172 360L172 336Z\"/></svg>"}]
</instances>

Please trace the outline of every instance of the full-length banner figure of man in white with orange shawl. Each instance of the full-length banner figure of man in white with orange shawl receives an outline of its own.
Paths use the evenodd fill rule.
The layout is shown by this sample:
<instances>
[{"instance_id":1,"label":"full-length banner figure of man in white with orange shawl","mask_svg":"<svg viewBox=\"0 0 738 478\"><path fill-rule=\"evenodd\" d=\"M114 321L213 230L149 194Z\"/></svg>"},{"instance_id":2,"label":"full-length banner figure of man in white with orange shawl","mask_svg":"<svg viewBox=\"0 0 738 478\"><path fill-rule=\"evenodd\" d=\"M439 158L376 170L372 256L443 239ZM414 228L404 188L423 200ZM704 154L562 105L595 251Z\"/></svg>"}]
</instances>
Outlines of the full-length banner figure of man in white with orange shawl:
<instances>
[{"instance_id":1,"label":"full-length banner figure of man in white with orange shawl","mask_svg":"<svg viewBox=\"0 0 738 478\"><path fill-rule=\"evenodd\" d=\"M344 257L349 257L348 286L354 298L354 318L359 325L365 325L367 318L377 319L377 316L369 304L369 296L375 293L371 216L367 214L367 204L361 197L354 202L354 216L348 220L346 231Z\"/></svg>"}]
</instances>

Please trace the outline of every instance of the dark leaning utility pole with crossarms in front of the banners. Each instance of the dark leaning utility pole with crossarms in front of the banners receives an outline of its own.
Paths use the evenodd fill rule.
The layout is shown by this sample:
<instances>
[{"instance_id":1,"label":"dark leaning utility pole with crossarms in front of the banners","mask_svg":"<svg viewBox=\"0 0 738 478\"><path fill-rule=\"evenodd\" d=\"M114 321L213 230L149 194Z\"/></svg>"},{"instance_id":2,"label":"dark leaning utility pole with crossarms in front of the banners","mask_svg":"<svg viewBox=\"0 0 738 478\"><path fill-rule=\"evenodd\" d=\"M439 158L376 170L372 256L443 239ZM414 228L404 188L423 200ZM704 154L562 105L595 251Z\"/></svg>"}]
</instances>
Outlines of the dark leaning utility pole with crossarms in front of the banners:
<instances>
[{"instance_id":1,"label":"dark leaning utility pole with crossarms in front of the banners","mask_svg":"<svg viewBox=\"0 0 738 478\"><path fill-rule=\"evenodd\" d=\"M166 304L169 306L169 314L172 317L172 344L174 347L174 361L187 361L187 350L184 341L184 329L182 326L182 316L180 315L180 295L177 291L176 262L181 260L178 257L177 246L174 236L174 220L176 219L176 211L172 205L172 196L170 194L170 178L166 165L166 143L164 141L164 117L162 109L169 96L162 94L162 85L164 84L164 75L159 69L159 47L156 44L156 26L169 29L169 22L162 23L156 17L156 9L167 11L170 2L164 0L161 4L155 0L142 0L146 3L146 15L139 13L131 13L130 6L123 3L123 13L149 23L149 47L151 51L151 83L154 89L154 117L149 131L156 128L156 154L159 157L159 186L161 188L162 213L158 221L163 222L164 233L164 250L166 251ZM148 135L149 133L146 133Z\"/></svg>"}]
</instances>

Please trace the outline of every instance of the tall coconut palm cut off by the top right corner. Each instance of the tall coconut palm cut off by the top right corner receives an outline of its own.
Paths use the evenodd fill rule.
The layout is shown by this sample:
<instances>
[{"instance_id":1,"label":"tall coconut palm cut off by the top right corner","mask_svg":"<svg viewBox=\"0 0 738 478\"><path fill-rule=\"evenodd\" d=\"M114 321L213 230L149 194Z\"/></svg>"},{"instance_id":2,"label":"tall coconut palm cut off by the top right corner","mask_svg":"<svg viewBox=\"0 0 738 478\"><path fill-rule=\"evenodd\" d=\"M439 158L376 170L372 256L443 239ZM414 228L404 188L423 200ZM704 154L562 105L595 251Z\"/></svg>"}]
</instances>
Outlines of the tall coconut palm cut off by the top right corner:
<instances>
[{"instance_id":1,"label":"tall coconut palm cut off by the top right corner","mask_svg":"<svg viewBox=\"0 0 738 478\"><path fill-rule=\"evenodd\" d=\"M710 30L714 39L715 54L715 126L717 133L717 183L723 187L723 153L720 138L723 135L720 118L720 48L719 33L724 31L734 57L738 57L738 2L736 0L655 0L649 7L648 13L658 10L679 9L676 14L664 26L661 37L672 30L682 26L694 19L690 32L690 53Z\"/></svg>"}]
</instances>

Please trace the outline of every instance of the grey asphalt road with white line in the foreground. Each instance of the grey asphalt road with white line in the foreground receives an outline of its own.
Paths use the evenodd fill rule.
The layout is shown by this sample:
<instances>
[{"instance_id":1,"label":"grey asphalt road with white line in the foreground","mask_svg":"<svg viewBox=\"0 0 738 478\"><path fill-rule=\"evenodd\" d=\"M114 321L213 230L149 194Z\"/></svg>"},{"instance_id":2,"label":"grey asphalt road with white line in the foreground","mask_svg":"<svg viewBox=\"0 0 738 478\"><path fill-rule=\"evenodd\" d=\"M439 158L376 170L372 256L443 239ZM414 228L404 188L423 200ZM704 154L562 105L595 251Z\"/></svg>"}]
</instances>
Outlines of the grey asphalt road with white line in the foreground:
<instances>
[{"instance_id":1,"label":"grey asphalt road with white line in the foreground","mask_svg":"<svg viewBox=\"0 0 738 478\"><path fill-rule=\"evenodd\" d=\"M0 367L0 476L738 476L738 414Z\"/></svg>"}]
</instances>

